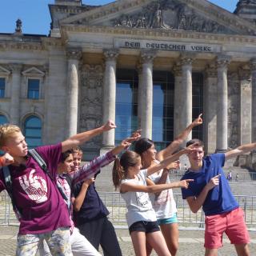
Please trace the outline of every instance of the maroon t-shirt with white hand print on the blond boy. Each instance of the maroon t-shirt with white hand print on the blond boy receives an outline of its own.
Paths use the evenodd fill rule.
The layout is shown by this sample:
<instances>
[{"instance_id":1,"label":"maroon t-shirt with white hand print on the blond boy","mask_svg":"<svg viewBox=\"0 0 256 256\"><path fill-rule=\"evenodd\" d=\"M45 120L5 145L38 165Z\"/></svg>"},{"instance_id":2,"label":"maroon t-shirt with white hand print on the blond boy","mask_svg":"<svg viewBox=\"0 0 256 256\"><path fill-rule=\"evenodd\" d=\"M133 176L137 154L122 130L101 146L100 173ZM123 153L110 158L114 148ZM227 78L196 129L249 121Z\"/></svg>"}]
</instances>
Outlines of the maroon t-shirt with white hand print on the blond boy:
<instances>
[{"instance_id":1,"label":"maroon t-shirt with white hand print on the blond boy","mask_svg":"<svg viewBox=\"0 0 256 256\"><path fill-rule=\"evenodd\" d=\"M31 157L28 157L26 166L9 166L14 200L22 213L19 234L42 234L62 226L70 226L66 202L56 186L62 144L40 146L36 150L46 162L54 182ZM0 191L5 189L1 172Z\"/></svg>"}]
</instances>

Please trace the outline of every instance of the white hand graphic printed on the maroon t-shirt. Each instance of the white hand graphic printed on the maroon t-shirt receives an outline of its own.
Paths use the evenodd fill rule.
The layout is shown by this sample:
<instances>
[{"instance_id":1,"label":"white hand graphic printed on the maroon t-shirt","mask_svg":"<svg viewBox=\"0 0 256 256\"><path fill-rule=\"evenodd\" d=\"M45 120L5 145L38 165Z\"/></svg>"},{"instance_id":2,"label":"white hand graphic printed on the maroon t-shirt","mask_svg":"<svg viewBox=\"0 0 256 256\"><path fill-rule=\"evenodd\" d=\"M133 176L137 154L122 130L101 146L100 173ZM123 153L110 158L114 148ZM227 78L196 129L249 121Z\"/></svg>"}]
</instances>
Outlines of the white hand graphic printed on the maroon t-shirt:
<instances>
[{"instance_id":1,"label":"white hand graphic printed on the maroon t-shirt","mask_svg":"<svg viewBox=\"0 0 256 256\"><path fill-rule=\"evenodd\" d=\"M34 175L35 170L30 170L29 178L27 175L19 177L19 183L26 194L36 203L46 202L47 186L46 180L41 176Z\"/></svg>"}]
</instances>

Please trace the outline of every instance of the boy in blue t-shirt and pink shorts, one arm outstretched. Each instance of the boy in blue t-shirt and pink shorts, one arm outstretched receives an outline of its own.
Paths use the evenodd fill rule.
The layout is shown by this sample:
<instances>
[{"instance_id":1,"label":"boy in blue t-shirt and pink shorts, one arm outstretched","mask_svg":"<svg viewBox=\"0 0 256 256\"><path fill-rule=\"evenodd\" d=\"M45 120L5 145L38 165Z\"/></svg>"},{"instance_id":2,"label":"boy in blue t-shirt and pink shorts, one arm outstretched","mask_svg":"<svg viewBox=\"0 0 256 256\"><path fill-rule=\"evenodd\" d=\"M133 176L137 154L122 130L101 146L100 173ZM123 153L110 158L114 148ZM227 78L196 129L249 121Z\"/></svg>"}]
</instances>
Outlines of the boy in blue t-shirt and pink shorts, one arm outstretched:
<instances>
[{"instance_id":1,"label":"boy in blue t-shirt and pink shorts, one arm outstretched","mask_svg":"<svg viewBox=\"0 0 256 256\"><path fill-rule=\"evenodd\" d=\"M182 198L186 199L193 213L202 207L206 214L205 247L206 256L216 256L222 247L222 235L225 232L234 244L237 254L249 256L250 242L243 210L239 207L230 190L225 173L222 170L225 161L246 154L256 148L256 143L238 146L224 154L210 154L204 158L203 144L198 139L186 143L190 146L195 142L189 154L190 168L182 179L194 179L187 190L182 189Z\"/></svg>"}]
</instances>

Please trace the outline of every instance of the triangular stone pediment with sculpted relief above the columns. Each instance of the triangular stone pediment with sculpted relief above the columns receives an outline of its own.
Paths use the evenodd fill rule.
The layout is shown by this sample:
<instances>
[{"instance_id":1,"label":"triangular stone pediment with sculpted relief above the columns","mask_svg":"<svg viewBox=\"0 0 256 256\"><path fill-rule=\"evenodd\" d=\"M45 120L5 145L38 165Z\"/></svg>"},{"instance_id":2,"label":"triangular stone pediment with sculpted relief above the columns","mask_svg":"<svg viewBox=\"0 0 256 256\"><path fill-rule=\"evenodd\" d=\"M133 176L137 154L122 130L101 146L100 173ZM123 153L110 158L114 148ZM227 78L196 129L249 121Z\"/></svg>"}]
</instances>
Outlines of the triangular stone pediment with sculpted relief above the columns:
<instances>
[{"instance_id":1,"label":"triangular stone pediment with sculpted relief above the columns","mask_svg":"<svg viewBox=\"0 0 256 256\"><path fill-rule=\"evenodd\" d=\"M120 0L61 24L255 35L256 26L206 0Z\"/></svg>"}]
</instances>

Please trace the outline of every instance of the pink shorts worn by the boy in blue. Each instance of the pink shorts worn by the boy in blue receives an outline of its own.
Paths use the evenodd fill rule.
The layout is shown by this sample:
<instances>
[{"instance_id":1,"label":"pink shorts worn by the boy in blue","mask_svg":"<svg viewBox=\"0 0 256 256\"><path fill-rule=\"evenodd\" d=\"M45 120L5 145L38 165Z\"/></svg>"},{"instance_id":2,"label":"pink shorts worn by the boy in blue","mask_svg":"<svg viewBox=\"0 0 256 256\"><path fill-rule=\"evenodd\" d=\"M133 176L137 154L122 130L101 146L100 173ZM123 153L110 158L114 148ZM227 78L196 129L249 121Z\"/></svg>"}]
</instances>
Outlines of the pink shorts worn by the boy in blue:
<instances>
[{"instance_id":1,"label":"pink shorts worn by the boy in blue","mask_svg":"<svg viewBox=\"0 0 256 256\"><path fill-rule=\"evenodd\" d=\"M222 235L226 233L230 242L235 245L247 244L250 236L244 221L244 213L237 208L225 214L206 216L205 247L218 249L222 247Z\"/></svg>"}]
</instances>

